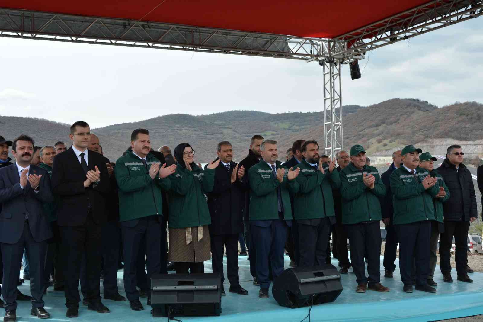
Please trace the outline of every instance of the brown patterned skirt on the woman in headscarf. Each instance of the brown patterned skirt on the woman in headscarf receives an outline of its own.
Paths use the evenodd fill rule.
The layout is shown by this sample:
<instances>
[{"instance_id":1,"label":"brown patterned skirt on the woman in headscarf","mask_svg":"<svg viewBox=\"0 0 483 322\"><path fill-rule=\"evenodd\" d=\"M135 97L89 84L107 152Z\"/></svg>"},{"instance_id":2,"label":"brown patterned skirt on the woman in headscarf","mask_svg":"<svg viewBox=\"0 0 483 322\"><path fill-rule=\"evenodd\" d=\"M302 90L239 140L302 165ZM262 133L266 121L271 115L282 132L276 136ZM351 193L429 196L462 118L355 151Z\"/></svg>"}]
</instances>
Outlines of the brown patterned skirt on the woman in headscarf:
<instances>
[{"instance_id":1,"label":"brown patterned skirt on the woman in headscarf","mask_svg":"<svg viewBox=\"0 0 483 322\"><path fill-rule=\"evenodd\" d=\"M169 256L171 262L199 263L211 258L210 232L203 226L203 238L198 241L198 227L191 227L192 241L186 245L185 228L169 229Z\"/></svg>"}]
</instances>

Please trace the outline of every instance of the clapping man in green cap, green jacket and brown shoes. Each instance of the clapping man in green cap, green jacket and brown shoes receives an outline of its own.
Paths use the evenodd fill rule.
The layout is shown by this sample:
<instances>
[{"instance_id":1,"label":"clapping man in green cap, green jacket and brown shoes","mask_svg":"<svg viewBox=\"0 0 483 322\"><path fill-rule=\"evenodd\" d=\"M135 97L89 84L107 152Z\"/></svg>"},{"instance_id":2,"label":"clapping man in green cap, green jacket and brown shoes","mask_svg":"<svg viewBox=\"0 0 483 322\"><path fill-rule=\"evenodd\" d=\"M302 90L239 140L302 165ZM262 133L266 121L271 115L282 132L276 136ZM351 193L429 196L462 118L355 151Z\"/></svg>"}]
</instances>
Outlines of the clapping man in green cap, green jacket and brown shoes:
<instances>
[{"instance_id":1,"label":"clapping man in green cap, green jacket and brown shoes","mask_svg":"<svg viewBox=\"0 0 483 322\"><path fill-rule=\"evenodd\" d=\"M357 278L355 292L389 292L381 284L381 205L386 194L377 169L366 164L366 151L356 144L350 150L351 163L341 171L342 224L347 227L351 262ZM366 277L366 257L369 278ZM369 284L369 285L368 285Z\"/></svg>"}]
</instances>

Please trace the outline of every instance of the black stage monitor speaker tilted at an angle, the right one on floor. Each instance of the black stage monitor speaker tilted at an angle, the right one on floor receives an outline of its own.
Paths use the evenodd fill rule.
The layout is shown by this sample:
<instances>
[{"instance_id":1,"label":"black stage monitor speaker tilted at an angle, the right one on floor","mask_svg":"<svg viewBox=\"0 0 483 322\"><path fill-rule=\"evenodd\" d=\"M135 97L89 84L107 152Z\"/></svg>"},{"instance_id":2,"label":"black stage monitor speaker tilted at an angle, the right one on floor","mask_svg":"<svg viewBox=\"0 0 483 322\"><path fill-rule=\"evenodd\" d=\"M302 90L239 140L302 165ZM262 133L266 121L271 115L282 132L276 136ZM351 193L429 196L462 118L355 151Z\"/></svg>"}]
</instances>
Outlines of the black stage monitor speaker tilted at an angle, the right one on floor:
<instances>
[{"instance_id":1,"label":"black stage monitor speaker tilted at an angle, the right one on floor","mask_svg":"<svg viewBox=\"0 0 483 322\"><path fill-rule=\"evenodd\" d=\"M330 264L287 268L272 287L277 303L290 308L334 302L341 292L341 275Z\"/></svg>"}]
</instances>

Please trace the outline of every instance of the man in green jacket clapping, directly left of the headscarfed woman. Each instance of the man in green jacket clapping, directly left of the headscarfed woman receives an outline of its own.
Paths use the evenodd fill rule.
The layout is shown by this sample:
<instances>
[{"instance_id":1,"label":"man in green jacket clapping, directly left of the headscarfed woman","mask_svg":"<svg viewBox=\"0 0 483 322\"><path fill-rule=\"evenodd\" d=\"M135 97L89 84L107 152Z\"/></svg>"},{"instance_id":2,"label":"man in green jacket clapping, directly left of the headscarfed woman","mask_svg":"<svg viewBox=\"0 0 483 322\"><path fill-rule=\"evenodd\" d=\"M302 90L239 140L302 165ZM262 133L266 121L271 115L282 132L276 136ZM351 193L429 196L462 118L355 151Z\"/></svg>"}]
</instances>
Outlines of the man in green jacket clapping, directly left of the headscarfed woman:
<instances>
[{"instance_id":1,"label":"man in green jacket clapping, directly left of the headscarfed woman","mask_svg":"<svg viewBox=\"0 0 483 322\"><path fill-rule=\"evenodd\" d=\"M139 253L146 252L147 280L159 274L161 257L161 223L163 202L161 189L169 190L170 179L176 165L166 167L151 153L151 139L145 129L131 133L131 148L117 159L114 167L119 194L119 221L124 247L124 288L129 307L134 311L144 309L136 289ZM151 305L148 295L147 305Z\"/></svg>"}]
</instances>

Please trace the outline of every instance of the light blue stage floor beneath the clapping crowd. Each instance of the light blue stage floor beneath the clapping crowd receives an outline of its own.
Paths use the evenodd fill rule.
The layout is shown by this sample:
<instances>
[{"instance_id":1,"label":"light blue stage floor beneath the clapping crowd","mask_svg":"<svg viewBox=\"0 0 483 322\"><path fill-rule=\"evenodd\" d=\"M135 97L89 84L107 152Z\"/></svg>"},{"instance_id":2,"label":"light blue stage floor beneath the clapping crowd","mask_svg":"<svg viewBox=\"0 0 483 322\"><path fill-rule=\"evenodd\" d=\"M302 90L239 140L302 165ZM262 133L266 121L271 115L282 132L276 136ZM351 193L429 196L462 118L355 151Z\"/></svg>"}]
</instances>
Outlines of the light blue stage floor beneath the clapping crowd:
<instances>
[{"instance_id":1,"label":"light blue stage floor beneath the clapping crowd","mask_svg":"<svg viewBox=\"0 0 483 322\"><path fill-rule=\"evenodd\" d=\"M383 258L381 257L381 263ZM333 260L337 265L337 260ZM226 264L226 258L225 258ZM288 257L285 256L285 267L288 267ZM205 262L207 272L211 271L211 261ZM384 278L384 267L381 266L381 275L384 286L391 288L389 293L367 291L365 294L355 293L355 275L352 269L348 275L342 275L341 281L344 290L334 303L313 306L311 322L320 321L350 321L350 322L379 322L379 321L415 321L426 322L457 317L483 314L483 274L473 273L470 277L474 283L467 284L456 280L453 269L452 284L444 283L439 268L436 268L434 280L438 283L436 294L420 291L403 293L398 268L394 278ZM226 276L226 273L225 273ZM119 293L124 295L123 272L118 272ZM254 286L250 276L250 267L246 256L240 256L241 286L248 290L249 295L228 293L229 284L225 284L227 296L222 297L222 314L220 317L178 317L186 321L276 321L298 322L307 316L308 308L290 309L280 307L271 295L269 299L259 299L259 288ZM102 285L102 284L101 284ZM102 286L101 286L102 287ZM29 294L29 282L26 281L19 289ZM149 321L153 319L150 307L146 306L146 298L141 299L145 309L132 311L128 302L114 302L103 300L104 305L111 309L111 313L99 314L89 311L82 303L79 308L79 317L68 319L65 317L65 298L62 292L48 289L44 296L45 309L50 312L52 321ZM102 294L102 290L101 290ZM81 295L82 296L82 295ZM35 317L30 316L30 303L18 302L17 321L29 321ZM168 321L167 318L156 318L157 321ZM309 321L307 318L305 321Z\"/></svg>"}]
</instances>

